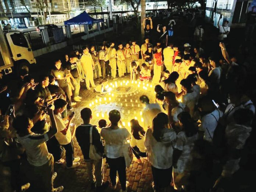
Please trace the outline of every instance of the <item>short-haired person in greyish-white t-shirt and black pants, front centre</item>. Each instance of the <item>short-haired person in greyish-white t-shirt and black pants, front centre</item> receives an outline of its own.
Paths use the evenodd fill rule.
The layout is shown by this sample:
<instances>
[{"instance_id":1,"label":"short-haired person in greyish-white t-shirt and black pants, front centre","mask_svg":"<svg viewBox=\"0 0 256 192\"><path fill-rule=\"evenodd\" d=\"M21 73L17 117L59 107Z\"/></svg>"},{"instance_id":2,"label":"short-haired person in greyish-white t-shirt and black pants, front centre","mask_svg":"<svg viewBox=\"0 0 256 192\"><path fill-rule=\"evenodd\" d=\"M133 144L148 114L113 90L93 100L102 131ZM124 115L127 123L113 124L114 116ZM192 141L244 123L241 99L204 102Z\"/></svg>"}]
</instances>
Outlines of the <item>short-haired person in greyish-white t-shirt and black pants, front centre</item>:
<instances>
[{"instance_id":1,"label":"short-haired person in greyish-white t-shirt and black pants, front centre","mask_svg":"<svg viewBox=\"0 0 256 192\"><path fill-rule=\"evenodd\" d=\"M109 112L109 120L111 122L109 127L104 127L100 131L100 136L105 140L105 155L110 167L110 179L112 188L117 186L118 179L117 172L120 178L122 191L126 191L128 181L126 181L126 165L124 154L122 152L123 143L131 138L131 134L126 128L118 127L118 122L121 119L120 112L112 110Z\"/></svg>"}]
</instances>

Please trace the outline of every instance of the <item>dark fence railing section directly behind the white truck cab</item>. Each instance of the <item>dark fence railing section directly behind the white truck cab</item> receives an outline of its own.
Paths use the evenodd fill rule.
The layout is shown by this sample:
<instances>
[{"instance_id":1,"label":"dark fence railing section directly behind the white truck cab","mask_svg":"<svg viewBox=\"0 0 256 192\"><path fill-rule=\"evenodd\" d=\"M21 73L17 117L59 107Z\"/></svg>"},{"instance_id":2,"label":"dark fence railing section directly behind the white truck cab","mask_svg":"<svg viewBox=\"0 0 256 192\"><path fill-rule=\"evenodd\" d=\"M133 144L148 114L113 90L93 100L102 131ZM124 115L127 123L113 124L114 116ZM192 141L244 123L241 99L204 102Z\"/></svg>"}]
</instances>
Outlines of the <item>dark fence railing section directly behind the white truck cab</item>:
<instances>
[{"instance_id":1,"label":"dark fence railing section directly behind the white truck cab","mask_svg":"<svg viewBox=\"0 0 256 192\"><path fill-rule=\"evenodd\" d=\"M26 36L26 38L28 38L32 50L41 49L46 46L42 29L24 32L24 35Z\"/></svg>"}]
</instances>

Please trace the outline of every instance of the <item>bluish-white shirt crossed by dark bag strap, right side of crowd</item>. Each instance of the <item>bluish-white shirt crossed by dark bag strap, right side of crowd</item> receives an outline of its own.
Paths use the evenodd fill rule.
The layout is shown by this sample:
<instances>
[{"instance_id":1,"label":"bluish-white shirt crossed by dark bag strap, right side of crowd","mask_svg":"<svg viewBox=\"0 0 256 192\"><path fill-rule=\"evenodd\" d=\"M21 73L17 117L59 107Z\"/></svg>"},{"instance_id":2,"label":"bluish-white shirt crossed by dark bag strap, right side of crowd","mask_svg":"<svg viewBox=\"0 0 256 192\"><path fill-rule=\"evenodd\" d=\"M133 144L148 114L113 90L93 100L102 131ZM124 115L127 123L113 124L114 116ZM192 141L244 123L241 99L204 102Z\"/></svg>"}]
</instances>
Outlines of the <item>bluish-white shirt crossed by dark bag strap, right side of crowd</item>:
<instances>
[{"instance_id":1,"label":"bluish-white shirt crossed by dark bag strap, right side of crowd","mask_svg":"<svg viewBox=\"0 0 256 192\"><path fill-rule=\"evenodd\" d=\"M218 120L222 116L222 111L216 109L212 113L206 114L202 117L199 130L204 132L203 138L206 141L212 142L214 130L217 127Z\"/></svg>"}]
</instances>

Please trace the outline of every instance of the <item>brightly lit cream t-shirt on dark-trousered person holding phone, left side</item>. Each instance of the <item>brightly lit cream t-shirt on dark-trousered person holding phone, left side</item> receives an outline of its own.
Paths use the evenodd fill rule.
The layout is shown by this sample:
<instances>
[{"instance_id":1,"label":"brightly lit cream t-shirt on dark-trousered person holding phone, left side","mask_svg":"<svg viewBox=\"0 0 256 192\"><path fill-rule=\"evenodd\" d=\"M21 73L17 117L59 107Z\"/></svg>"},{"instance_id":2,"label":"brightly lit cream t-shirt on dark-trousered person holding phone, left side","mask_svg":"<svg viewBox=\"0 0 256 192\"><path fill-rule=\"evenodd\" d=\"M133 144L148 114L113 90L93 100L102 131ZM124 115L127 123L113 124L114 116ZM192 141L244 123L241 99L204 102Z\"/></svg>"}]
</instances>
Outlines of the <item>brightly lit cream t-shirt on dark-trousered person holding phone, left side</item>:
<instances>
[{"instance_id":1,"label":"brightly lit cream t-shirt on dark-trousered person holding phone, left side","mask_svg":"<svg viewBox=\"0 0 256 192\"><path fill-rule=\"evenodd\" d=\"M71 142L70 129L68 129L66 135L61 133L61 131L63 131L66 128L66 125L65 125L64 121L62 120L60 114L58 114L58 115L54 114L54 118L56 120L56 124L58 127L58 132L55 134L55 137L56 137L57 141L60 143L60 145L67 145L68 143Z\"/></svg>"}]
</instances>

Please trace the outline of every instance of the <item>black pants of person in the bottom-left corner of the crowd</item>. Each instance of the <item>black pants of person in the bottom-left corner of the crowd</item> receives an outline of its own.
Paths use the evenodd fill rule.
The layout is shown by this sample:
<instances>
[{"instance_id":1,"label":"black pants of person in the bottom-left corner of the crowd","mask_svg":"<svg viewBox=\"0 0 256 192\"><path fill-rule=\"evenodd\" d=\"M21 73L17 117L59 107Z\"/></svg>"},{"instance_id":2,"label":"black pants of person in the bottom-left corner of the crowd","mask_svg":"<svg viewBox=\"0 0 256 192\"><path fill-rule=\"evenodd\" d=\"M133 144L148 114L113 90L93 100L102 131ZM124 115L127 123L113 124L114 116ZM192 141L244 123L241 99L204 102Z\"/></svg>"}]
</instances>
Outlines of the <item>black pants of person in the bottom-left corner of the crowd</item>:
<instances>
[{"instance_id":1,"label":"black pants of person in the bottom-left corner of the crowd","mask_svg":"<svg viewBox=\"0 0 256 192\"><path fill-rule=\"evenodd\" d=\"M11 187L13 188L13 190L16 190L16 192L20 192L21 179L19 175L20 175L21 161L19 159L7 161L7 162L4 162L3 165L5 167L9 167L11 170Z\"/></svg>"}]
</instances>

